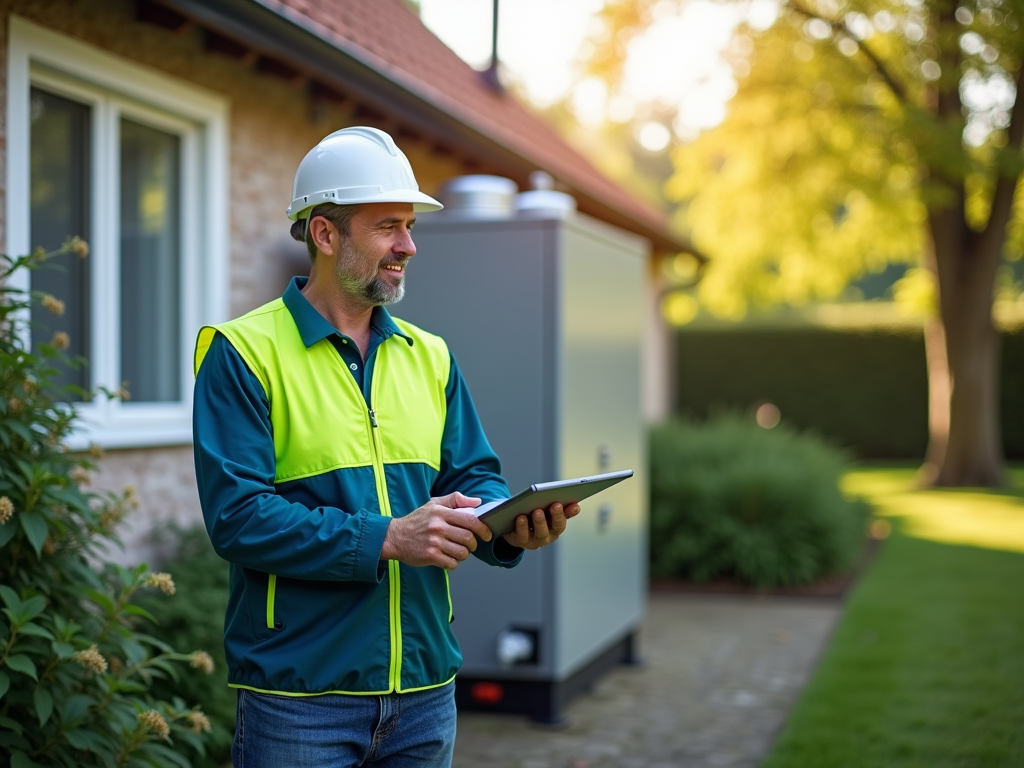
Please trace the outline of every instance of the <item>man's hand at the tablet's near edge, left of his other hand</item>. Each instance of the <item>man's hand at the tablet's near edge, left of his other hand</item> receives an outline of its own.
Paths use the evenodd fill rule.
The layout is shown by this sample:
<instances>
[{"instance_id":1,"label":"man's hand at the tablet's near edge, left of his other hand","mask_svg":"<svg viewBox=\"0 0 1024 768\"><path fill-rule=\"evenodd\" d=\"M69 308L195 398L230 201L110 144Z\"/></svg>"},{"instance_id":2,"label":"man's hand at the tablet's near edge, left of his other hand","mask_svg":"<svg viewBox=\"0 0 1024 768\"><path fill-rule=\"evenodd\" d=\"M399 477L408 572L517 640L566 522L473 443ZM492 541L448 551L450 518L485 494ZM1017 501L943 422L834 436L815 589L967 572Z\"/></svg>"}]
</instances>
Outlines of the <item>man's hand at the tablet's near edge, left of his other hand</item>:
<instances>
[{"instance_id":1,"label":"man's hand at the tablet's near edge, left of his other hand","mask_svg":"<svg viewBox=\"0 0 1024 768\"><path fill-rule=\"evenodd\" d=\"M455 570L476 549L476 537L490 541L490 528L472 512L460 511L479 506L479 499L456 493L431 499L404 517L392 518L381 559Z\"/></svg>"}]
</instances>

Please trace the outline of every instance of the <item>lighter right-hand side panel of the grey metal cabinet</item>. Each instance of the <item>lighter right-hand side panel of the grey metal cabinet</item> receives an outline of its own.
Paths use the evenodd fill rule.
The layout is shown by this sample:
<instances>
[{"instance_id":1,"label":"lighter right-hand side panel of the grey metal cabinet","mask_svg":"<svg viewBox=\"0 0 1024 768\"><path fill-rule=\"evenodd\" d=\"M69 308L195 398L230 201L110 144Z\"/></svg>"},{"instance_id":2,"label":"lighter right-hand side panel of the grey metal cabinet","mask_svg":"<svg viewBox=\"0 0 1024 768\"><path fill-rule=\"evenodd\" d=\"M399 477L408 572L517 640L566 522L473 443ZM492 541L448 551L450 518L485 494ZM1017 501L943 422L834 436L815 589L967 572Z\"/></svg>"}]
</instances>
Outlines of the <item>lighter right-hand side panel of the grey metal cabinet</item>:
<instances>
[{"instance_id":1,"label":"lighter right-hand side panel of the grey metal cabinet","mask_svg":"<svg viewBox=\"0 0 1024 768\"><path fill-rule=\"evenodd\" d=\"M645 474L640 391L644 254L593 229L566 226L561 285L559 469L575 477L632 468L636 476L583 503L556 546L553 613L562 679L641 620Z\"/></svg>"}]
</instances>

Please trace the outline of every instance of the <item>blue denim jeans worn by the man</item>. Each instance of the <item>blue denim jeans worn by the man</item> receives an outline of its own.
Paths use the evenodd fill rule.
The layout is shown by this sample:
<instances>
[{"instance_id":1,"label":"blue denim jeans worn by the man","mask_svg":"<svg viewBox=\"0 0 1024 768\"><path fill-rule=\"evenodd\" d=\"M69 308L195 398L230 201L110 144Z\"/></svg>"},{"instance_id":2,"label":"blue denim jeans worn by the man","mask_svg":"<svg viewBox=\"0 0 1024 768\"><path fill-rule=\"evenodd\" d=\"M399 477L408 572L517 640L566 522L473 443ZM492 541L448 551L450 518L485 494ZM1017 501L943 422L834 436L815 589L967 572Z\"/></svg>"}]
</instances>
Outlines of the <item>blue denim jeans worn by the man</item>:
<instances>
[{"instance_id":1,"label":"blue denim jeans worn by the man","mask_svg":"<svg viewBox=\"0 0 1024 768\"><path fill-rule=\"evenodd\" d=\"M239 690L234 768L447 768L455 683L383 696Z\"/></svg>"}]
</instances>

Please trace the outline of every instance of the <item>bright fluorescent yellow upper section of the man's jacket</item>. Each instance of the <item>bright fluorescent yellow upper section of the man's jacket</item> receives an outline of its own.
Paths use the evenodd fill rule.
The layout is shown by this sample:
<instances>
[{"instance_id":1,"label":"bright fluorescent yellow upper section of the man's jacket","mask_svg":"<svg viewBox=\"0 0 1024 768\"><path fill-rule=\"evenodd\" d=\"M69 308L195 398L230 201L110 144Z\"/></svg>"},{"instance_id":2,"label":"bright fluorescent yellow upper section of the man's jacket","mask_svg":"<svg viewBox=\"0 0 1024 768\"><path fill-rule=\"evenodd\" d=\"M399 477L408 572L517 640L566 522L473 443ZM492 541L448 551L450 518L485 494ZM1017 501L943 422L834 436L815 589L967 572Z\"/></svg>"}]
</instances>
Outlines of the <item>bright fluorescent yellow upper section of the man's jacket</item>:
<instances>
[{"instance_id":1,"label":"bright fluorescent yellow upper section of the man's jacket","mask_svg":"<svg viewBox=\"0 0 1024 768\"><path fill-rule=\"evenodd\" d=\"M306 349L281 299L229 323L203 328L196 345L196 373L219 331L263 385L279 483L343 467L373 466L374 420L380 428L377 459L439 470L447 347L409 323L395 324L413 343L396 339L401 343L378 348L370 396L373 415L331 342L322 339ZM386 499L381 501L385 509Z\"/></svg>"}]
</instances>

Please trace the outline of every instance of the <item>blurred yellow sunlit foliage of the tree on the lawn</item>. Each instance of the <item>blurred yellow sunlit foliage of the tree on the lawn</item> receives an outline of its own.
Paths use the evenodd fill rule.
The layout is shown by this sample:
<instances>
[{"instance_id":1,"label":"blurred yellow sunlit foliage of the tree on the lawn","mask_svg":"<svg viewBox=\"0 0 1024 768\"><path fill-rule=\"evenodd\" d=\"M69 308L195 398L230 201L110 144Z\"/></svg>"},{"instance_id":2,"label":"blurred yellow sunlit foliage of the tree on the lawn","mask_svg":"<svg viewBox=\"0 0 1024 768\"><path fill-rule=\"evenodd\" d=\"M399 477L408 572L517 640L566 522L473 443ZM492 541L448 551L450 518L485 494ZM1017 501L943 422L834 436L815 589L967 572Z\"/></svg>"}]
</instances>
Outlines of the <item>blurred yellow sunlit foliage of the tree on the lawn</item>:
<instances>
[{"instance_id":1,"label":"blurred yellow sunlit foliage of the tree on the lawn","mask_svg":"<svg viewBox=\"0 0 1024 768\"><path fill-rule=\"evenodd\" d=\"M864 271L921 263L928 210L957 185L982 231L995 178L1021 170L1006 130L1019 18L1009 3L818 0L741 30L732 55L750 74L725 122L676 151L669 186L715 256L705 303L735 315L752 301L833 298ZM963 111L939 114L943 86Z\"/></svg>"}]
</instances>

